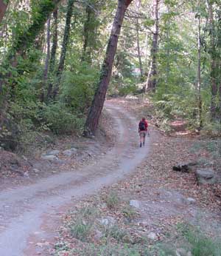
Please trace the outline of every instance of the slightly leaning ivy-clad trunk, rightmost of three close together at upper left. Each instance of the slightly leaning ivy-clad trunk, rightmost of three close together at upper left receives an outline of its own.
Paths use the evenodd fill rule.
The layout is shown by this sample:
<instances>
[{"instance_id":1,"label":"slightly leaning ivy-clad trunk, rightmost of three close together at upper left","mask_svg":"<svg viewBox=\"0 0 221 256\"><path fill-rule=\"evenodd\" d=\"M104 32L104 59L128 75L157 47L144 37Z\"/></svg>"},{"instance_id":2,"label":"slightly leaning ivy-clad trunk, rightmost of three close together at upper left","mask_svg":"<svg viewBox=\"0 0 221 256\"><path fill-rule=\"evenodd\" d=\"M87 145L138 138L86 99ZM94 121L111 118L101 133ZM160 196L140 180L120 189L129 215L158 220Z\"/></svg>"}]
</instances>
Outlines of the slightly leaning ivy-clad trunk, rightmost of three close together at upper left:
<instances>
[{"instance_id":1,"label":"slightly leaning ivy-clad trunk, rightmost of three close together at upper left","mask_svg":"<svg viewBox=\"0 0 221 256\"><path fill-rule=\"evenodd\" d=\"M61 48L61 53L60 53L60 61L58 64L58 69L57 69L57 83L55 85L55 90L53 92L54 98L57 96L58 91L59 91L60 79L61 79L61 75L63 73L64 62L66 59L66 51L67 51L67 47L69 44L71 17L72 17L72 13L73 13L73 7L74 7L74 0L69 0L68 10L67 10L67 14L66 14L66 27L65 27L64 34L63 34L63 43L62 43L62 48Z\"/></svg>"}]
</instances>

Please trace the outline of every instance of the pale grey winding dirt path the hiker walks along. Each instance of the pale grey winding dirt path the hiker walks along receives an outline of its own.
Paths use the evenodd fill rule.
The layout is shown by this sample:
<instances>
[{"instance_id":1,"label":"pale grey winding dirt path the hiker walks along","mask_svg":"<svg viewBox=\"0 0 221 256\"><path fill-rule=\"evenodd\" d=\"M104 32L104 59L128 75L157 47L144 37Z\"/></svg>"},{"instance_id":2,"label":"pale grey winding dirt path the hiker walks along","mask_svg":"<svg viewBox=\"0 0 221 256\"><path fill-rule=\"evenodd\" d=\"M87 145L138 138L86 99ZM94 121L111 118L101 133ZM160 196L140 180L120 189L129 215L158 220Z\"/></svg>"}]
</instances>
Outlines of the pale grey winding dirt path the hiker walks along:
<instances>
[{"instance_id":1,"label":"pale grey winding dirt path the hiker walks along","mask_svg":"<svg viewBox=\"0 0 221 256\"><path fill-rule=\"evenodd\" d=\"M114 118L118 140L104 158L76 172L52 175L35 184L1 192L0 255L37 255L28 248L32 237L44 238L45 218L66 209L73 198L91 195L126 178L147 156L150 141L138 148L138 120L120 105L107 102L105 108Z\"/></svg>"}]
</instances>

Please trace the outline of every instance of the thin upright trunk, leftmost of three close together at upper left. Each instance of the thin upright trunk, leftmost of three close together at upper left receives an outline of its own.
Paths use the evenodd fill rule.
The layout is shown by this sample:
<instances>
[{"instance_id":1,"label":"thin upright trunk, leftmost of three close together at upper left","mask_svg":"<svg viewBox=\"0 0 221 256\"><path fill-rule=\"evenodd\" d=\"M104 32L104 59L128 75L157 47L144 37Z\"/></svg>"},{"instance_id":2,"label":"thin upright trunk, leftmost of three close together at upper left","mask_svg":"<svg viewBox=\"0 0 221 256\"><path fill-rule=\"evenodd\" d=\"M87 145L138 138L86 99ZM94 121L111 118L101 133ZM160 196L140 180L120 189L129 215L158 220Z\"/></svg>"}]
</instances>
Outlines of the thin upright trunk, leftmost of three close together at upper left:
<instances>
[{"instance_id":1,"label":"thin upright trunk, leftmost of three close together at upper left","mask_svg":"<svg viewBox=\"0 0 221 256\"><path fill-rule=\"evenodd\" d=\"M45 66L43 70L43 82L41 87L41 97L40 100L43 102L44 100L44 90L48 80L48 73L49 73L49 59L50 59L50 27L51 27L51 19L49 18L47 21L47 34L46 34L46 44L47 44L47 51L46 51L46 60Z\"/></svg>"}]
</instances>

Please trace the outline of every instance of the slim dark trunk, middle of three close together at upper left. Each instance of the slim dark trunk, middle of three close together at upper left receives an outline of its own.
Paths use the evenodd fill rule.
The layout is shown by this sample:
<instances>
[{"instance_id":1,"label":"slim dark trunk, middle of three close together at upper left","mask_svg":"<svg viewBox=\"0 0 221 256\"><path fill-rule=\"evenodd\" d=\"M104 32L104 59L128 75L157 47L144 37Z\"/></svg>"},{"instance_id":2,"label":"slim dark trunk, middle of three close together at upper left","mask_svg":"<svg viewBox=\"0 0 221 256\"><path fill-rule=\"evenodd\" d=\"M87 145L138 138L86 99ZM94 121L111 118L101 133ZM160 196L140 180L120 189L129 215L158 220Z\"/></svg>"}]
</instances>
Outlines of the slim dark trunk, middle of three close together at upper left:
<instances>
[{"instance_id":1,"label":"slim dark trunk, middle of three close together at upper left","mask_svg":"<svg viewBox=\"0 0 221 256\"><path fill-rule=\"evenodd\" d=\"M52 38L52 50L51 50L51 58L49 62L49 72L52 74L55 71L55 59L57 53L57 13L58 10L56 9L53 13L54 24L53 24L53 38ZM53 83L50 82L48 86L48 92L46 96L46 101L49 101L49 98L52 98L52 89Z\"/></svg>"}]
</instances>

